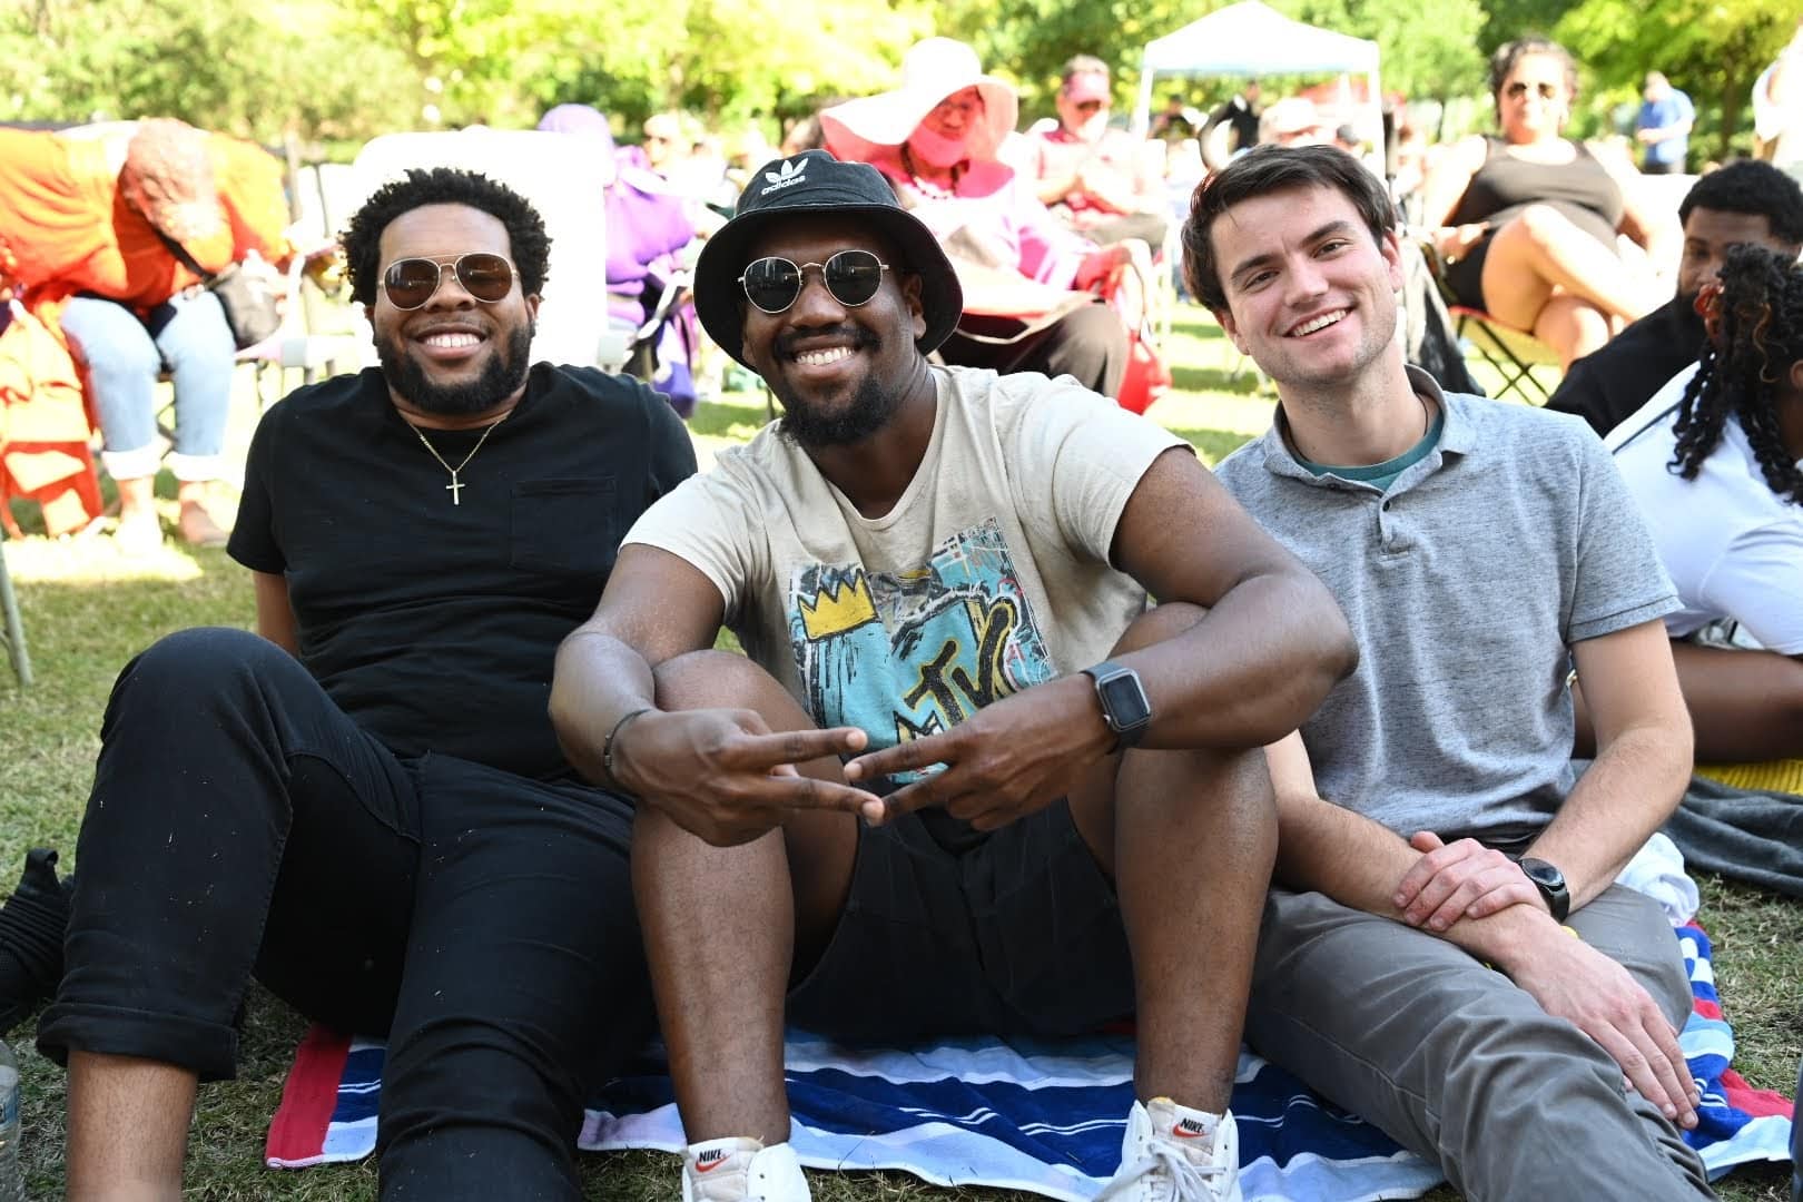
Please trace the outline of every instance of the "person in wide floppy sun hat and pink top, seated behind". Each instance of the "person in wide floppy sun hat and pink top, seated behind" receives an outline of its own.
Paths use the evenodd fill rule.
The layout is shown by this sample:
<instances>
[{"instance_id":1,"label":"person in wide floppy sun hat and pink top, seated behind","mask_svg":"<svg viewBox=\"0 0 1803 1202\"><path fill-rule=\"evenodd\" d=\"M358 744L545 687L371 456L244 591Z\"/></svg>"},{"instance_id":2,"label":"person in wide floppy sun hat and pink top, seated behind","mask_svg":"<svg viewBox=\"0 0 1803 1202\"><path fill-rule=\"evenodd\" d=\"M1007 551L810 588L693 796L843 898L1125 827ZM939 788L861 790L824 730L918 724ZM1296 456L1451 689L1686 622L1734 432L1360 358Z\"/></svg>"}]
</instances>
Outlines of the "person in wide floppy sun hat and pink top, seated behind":
<instances>
[{"instance_id":1,"label":"person in wide floppy sun hat and pink top, seated behind","mask_svg":"<svg viewBox=\"0 0 1803 1202\"><path fill-rule=\"evenodd\" d=\"M835 157L882 171L952 258L965 317L939 348L947 362L1071 375L1116 396L1127 330L1091 288L1132 250L1066 231L997 159L1017 117L1013 87L983 74L975 50L927 38L902 59L902 87L828 108L820 130Z\"/></svg>"}]
</instances>

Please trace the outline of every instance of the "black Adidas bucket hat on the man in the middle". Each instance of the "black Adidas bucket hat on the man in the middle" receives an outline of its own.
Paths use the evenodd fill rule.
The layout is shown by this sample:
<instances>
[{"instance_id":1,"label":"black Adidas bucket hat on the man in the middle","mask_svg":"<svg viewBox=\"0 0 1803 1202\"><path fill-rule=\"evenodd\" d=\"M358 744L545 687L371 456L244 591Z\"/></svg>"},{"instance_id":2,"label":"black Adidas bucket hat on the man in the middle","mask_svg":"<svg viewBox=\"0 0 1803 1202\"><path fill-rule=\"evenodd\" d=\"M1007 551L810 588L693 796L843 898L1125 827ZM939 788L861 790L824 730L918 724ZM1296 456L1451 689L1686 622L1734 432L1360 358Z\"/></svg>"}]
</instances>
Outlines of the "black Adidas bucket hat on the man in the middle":
<instances>
[{"instance_id":1,"label":"black Adidas bucket hat on the man in the middle","mask_svg":"<svg viewBox=\"0 0 1803 1202\"><path fill-rule=\"evenodd\" d=\"M745 290L739 276L750 261L752 241L770 222L810 213L867 218L902 256L892 267L920 276L927 332L914 339L914 346L925 355L952 337L965 314L965 294L939 240L902 207L882 171L810 150L757 169L739 195L734 218L707 240L694 265L694 314L728 355L750 368L745 362Z\"/></svg>"}]
</instances>

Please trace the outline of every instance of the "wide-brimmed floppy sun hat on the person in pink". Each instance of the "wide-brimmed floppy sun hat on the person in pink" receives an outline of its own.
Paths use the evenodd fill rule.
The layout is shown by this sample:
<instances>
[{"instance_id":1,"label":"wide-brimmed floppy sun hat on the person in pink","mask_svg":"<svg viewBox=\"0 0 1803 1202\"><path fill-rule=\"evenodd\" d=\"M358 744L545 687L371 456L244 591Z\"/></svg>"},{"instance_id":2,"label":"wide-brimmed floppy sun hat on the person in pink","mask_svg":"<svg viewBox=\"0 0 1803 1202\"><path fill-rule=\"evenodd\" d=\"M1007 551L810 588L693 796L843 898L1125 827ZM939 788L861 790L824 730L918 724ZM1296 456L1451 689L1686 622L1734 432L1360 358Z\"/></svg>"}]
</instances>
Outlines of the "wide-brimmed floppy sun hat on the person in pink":
<instances>
[{"instance_id":1,"label":"wide-brimmed floppy sun hat on the person in pink","mask_svg":"<svg viewBox=\"0 0 1803 1202\"><path fill-rule=\"evenodd\" d=\"M972 126L965 146L972 159L993 159L1002 139L1013 133L1020 103L1013 87L983 74L975 50L952 38L916 41L902 59L900 88L824 110L826 148L838 159L869 162L878 151L905 142L939 101L968 87L983 96L983 119Z\"/></svg>"}]
</instances>

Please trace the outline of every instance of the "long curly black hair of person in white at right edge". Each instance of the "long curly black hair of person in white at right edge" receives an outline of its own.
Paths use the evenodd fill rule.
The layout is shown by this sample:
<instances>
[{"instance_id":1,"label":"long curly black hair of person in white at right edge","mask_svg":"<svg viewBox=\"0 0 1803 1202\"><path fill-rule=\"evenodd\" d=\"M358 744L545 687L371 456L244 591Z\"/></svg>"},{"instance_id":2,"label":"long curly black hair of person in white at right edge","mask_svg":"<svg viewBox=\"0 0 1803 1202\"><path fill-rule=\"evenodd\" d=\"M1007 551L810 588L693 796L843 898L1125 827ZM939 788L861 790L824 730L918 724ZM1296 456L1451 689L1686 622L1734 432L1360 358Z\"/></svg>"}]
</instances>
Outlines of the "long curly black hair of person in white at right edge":
<instances>
[{"instance_id":1,"label":"long curly black hair of person in white at right edge","mask_svg":"<svg viewBox=\"0 0 1803 1202\"><path fill-rule=\"evenodd\" d=\"M1679 404L1670 470L1697 479L1734 416L1765 483L1780 497L1803 505L1803 470L1778 427L1778 389L1789 387L1798 360L1803 360L1803 269L1760 245L1729 247L1722 263L1720 332Z\"/></svg>"}]
</instances>

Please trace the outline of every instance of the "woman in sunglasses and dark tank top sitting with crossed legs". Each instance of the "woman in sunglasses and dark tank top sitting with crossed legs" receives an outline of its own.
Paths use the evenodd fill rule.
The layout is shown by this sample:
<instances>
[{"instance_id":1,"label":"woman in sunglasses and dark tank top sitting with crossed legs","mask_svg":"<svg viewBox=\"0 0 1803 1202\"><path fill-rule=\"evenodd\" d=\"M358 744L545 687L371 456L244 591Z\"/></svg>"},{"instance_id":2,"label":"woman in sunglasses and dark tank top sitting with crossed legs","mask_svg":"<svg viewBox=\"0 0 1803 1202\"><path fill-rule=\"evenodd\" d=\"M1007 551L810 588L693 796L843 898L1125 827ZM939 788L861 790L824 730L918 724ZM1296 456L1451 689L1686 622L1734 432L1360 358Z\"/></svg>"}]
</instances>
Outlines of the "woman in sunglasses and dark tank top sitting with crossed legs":
<instances>
[{"instance_id":1,"label":"woman in sunglasses and dark tank top sitting with crossed legs","mask_svg":"<svg viewBox=\"0 0 1803 1202\"><path fill-rule=\"evenodd\" d=\"M1455 142L1428 171L1428 241L1453 296L1551 346L1561 366L1588 355L1671 296L1630 265L1617 234L1675 267L1677 223L1635 200L1634 164L1567 139L1578 65L1545 38L1491 56L1498 137Z\"/></svg>"}]
</instances>

